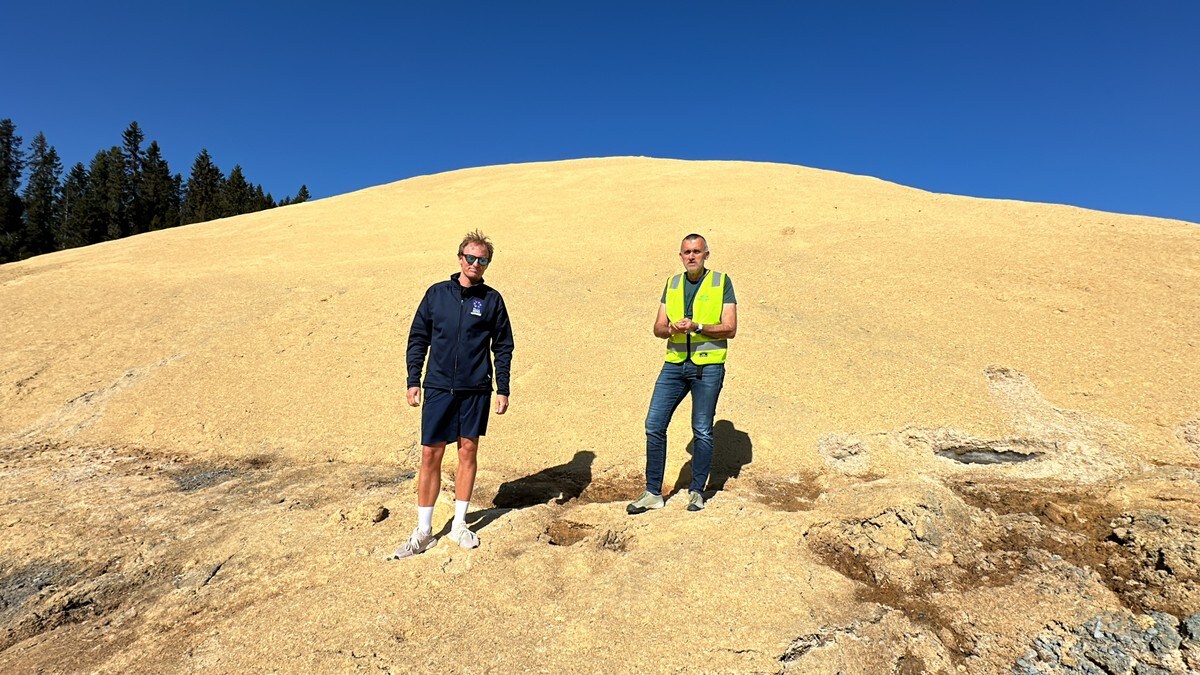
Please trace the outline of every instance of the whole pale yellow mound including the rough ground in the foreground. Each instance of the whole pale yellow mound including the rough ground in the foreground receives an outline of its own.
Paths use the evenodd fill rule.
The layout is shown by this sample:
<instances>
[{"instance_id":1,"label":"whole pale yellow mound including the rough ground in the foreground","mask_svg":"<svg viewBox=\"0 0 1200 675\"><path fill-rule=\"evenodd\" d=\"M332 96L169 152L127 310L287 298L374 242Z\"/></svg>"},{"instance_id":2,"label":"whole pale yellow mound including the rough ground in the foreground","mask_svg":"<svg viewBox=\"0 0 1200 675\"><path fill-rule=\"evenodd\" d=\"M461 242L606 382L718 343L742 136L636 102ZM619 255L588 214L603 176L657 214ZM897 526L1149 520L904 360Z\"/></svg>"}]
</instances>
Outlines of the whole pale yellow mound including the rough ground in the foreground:
<instances>
[{"instance_id":1,"label":"whole pale yellow mound including the rough ground in the foreground","mask_svg":"<svg viewBox=\"0 0 1200 675\"><path fill-rule=\"evenodd\" d=\"M476 227L517 341L484 543L385 561L408 325ZM630 518L692 231L739 301L719 491ZM1200 668L1198 270L1187 222L649 159L0 267L0 671Z\"/></svg>"}]
</instances>

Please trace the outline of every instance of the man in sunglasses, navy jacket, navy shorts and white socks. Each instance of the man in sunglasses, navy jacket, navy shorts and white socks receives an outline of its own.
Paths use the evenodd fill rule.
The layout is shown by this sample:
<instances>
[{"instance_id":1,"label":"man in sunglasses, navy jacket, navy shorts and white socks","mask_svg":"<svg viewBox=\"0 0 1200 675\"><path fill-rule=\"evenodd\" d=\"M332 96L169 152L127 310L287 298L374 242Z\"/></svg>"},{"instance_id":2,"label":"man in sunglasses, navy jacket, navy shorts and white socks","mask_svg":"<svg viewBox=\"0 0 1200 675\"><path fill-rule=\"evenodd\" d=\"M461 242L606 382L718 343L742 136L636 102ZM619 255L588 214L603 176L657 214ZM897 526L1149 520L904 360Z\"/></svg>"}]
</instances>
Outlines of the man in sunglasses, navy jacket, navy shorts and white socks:
<instances>
[{"instance_id":1,"label":"man in sunglasses, navy jacket, navy shorts and white socks","mask_svg":"<svg viewBox=\"0 0 1200 675\"><path fill-rule=\"evenodd\" d=\"M413 407L421 405L421 365L428 353L416 482L418 524L395 557L410 557L437 544L433 504L442 488L442 455L450 442L458 443L450 538L464 549L479 545L479 537L467 527L467 507L475 488L479 437L487 432L490 357L496 360L496 414L509 410L512 364L512 327L504 298L484 283L484 270L493 253L487 237L479 231L468 233L458 244L462 271L430 286L413 316L408 331L408 405Z\"/></svg>"}]
</instances>

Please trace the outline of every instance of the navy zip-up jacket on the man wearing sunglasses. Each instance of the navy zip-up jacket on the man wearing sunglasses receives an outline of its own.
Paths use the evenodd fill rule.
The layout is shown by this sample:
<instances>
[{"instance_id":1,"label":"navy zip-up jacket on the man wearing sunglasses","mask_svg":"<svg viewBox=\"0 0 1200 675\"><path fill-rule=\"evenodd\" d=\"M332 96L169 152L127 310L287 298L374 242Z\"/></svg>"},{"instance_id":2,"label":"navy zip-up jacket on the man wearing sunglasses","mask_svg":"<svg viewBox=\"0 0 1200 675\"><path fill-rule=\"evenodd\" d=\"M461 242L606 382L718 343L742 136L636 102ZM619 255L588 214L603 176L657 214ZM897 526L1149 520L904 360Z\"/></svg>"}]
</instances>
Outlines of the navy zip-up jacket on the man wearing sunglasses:
<instances>
[{"instance_id":1,"label":"navy zip-up jacket on the man wearing sunglasses","mask_svg":"<svg viewBox=\"0 0 1200 675\"><path fill-rule=\"evenodd\" d=\"M421 386L426 351L427 389L491 392L491 351L496 354L496 393L508 396L512 327L504 298L482 281L462 286L458 274L430 286L408 330L409 387Z\"/></svg>"}]
</instances>

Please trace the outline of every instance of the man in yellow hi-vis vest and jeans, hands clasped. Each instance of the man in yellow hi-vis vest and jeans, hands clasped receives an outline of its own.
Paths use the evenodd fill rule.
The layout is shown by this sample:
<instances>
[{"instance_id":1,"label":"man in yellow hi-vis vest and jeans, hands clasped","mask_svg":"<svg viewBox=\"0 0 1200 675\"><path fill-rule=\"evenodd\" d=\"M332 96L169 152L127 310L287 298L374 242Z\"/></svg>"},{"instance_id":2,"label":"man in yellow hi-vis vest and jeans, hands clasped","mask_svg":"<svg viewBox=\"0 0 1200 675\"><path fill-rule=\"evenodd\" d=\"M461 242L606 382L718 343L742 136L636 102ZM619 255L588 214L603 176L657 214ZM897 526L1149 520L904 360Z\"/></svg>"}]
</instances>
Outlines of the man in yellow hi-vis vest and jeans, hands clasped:
<instances>
[{"instance_id":1,"label":"man in yellow hi-vis vest and jeans, hands clasped","mask_svg":"<svg viewBox=\"0 0 1200 675\"><path fill-rule=\"evenodd\" d=\"M730 339L738 334L738 301L728 275L704 268L708 241L703 237L684 237L679 259L685 271L667 280L654 319L654 335L667 341L667 353L646 416L646 492L625 507L630 514L664 506L667 424L689 392L694 446L688 510L704 508L702 492L713 464L713 418L725 383L725 354Z\"/></svg>"}]
</instances>

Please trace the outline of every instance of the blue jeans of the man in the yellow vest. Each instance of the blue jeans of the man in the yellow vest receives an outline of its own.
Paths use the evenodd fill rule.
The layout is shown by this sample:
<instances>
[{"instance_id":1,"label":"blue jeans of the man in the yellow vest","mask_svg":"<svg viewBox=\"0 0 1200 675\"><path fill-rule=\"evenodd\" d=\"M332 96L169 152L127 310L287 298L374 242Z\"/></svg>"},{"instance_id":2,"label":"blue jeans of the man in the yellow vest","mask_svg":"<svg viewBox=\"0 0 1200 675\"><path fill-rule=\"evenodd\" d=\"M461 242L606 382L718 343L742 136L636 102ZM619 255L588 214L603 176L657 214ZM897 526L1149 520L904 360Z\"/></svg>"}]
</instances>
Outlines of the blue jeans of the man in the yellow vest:
<instances>
[{"instance_id":1,"label":"blue jeans of the man in the yellow vest","mask_svg":"<svg viewBox=\"0 0 1200 675\"><path fill-rule=\"evenodd\" d=\"M691 490L700 492L713 465L713 418L725 384L725 364L697 366L691 362L665 363L646 416L646 489L662 494L667 465L667 424L683 398L691 392Z\"/></svg>"}]
</instances>

